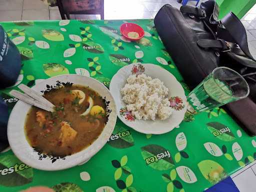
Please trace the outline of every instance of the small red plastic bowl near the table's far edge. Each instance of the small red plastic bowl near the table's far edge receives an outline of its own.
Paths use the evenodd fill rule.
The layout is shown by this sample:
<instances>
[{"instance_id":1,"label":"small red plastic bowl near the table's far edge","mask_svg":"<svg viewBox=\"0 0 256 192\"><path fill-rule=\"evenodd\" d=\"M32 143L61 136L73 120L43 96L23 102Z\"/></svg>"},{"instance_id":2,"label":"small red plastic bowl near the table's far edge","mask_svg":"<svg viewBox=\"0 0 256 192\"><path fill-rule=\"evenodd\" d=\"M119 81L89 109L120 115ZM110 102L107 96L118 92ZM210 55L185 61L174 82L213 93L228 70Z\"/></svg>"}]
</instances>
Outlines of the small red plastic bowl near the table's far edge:
<instances>
[{"instance_id":1,"label":"small red plastic bowl near the table's far edge","mask_svg":"<svg viewBox=\"0 0 256 192\"><path fill-rule=\"evenodd\" d=\"M132 23L132 22L125 22L125 23L121 24L120 32L125 38L127 38L129 40L138 40L144 36L143 28L141 28L139 25ZM130 38L130 37L128 37L128 32L137 32L138 37Z\"/></svg>"}]
</instances>

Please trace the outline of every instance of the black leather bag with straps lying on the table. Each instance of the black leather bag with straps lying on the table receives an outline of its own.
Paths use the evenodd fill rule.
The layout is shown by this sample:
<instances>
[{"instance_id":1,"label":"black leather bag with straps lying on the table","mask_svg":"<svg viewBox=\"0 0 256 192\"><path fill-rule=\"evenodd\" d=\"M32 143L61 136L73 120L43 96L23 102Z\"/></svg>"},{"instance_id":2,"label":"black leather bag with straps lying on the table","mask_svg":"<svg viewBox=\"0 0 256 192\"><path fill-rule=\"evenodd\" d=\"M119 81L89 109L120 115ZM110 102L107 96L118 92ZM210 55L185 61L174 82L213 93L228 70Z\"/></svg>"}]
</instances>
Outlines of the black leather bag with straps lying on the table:
<instances>
[{"instance_id":1,"label":"black leather bag with straps lying on the table","mask_svg":"<svg viewBox=\"0 0 256 192\"><path fill-rule=\"evenodd\" d=\"M256 135L256 62L240 20L230 12L219 21L217 4L208 0L199 7L184 5L180 10L165 4L154 24L191 89L217 66L228 66L244 76L249 97L226 106L249 134Z\"/></svg>"}]
</instances>

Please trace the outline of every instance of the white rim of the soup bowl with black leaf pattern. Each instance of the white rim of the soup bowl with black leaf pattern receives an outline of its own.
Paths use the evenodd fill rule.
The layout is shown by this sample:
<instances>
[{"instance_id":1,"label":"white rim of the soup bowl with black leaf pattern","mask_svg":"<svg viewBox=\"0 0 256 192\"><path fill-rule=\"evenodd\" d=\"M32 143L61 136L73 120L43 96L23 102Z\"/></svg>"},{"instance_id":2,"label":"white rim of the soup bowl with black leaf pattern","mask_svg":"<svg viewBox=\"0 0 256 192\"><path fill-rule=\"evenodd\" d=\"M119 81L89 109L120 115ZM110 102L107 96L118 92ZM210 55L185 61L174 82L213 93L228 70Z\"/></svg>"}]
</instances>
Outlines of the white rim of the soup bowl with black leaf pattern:
<instances>
[{"instance_id":1,"label":"white rim of the soup bowl with black leaf pattern","mask_svg":"<svg viewBox=\"0 0 256 192\"><path fill-rule=\"evenodd\" d=\"M43 80L34 85L32 89L43 94L44 91L62 86L66 83L86 85L98 92L107 104L107 123L98 138L80 152L61 157L46 155L37 152L26 140L24 123L31 105L19 100L9 116L7 136L14 154L31 167L41 170L60 170L80 164L98 152L113 132L116 122L116 106L109 90L96 79L77 74L59 75Z\"/></svg>"}]
</instances>

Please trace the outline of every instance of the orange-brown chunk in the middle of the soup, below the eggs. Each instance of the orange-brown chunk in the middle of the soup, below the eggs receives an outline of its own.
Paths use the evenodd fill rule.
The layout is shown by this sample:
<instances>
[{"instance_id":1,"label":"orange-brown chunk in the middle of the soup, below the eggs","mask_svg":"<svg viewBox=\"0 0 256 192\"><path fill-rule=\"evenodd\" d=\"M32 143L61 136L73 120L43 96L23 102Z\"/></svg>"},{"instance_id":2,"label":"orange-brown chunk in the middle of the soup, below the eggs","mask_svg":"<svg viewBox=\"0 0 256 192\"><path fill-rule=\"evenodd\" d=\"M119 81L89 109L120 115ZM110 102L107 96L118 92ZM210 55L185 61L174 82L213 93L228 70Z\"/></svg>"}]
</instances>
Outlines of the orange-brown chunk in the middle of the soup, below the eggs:
<instances>
[{"instance_id":1,"label":"orange-brown chunk in the middle of the soup, below the eggs","mask_svg":"<svg viewBox=\"0 0 256 192\"><path fill-rule=\"evenodd\" d=\"M60 136L59 139L61 141L61 146L68 145L76 136L77 132L71 128L71 126L66 122L61 122L61 128L60 128Z\"/></svg>"}]
</instances>

